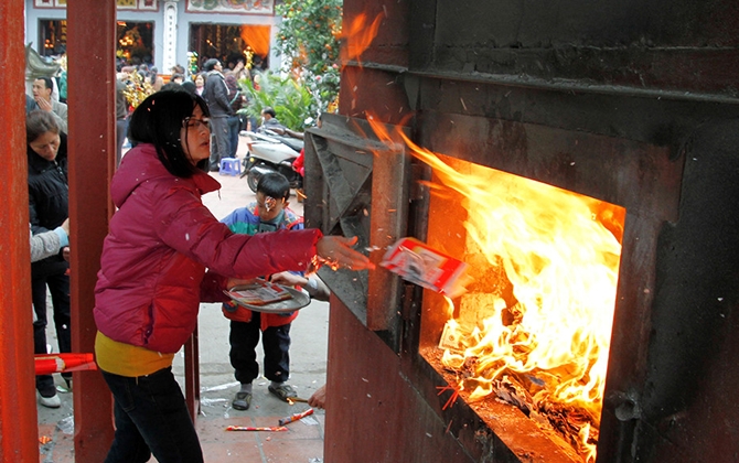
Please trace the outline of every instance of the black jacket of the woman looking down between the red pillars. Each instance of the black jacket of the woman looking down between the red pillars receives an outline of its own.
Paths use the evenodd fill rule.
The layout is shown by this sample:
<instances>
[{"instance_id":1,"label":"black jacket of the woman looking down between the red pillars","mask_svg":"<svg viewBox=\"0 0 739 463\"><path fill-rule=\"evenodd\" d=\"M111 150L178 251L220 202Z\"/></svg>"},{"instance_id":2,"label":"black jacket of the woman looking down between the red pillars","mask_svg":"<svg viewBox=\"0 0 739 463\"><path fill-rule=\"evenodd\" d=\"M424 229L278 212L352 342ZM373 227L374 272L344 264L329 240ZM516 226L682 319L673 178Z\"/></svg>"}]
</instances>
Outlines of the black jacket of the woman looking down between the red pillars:
<instances>
[{"instance_id":1,"label":"black jacket of the woman looking down between the red pillars","mask_svg":"<svg viewBox=\"0 0 739 463\"><path fill-rule=\"evenodd\" d=\"M34 235L53 230L69 215L66 134L60 133L60 137L62 140L54 161L46 161L28 147L29 218ZM35 274L41 269L55 272L66 267L61 256L52 256L33 263L32 268Z\"/></svg>"}]
</instances>

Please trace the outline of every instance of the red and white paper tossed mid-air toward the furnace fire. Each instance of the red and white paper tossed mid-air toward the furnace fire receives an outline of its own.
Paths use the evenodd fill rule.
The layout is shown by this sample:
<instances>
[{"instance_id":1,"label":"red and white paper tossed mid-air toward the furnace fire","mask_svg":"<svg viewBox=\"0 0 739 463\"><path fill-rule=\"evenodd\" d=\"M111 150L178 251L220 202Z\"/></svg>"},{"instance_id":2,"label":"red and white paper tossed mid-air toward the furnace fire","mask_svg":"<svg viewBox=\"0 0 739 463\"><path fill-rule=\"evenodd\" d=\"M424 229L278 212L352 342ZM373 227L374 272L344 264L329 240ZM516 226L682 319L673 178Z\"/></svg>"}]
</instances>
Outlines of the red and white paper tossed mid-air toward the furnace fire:
<instances>
[{"instance_id":1,"label":"red and white paper tossed mid-air toward the furnace fire","mask_svg":"<svg viewBox=\"0 0 739 463\"><path fill-rule=\"evenodd\" d=\"M404 280L450 298L464 292L467 263L415 238L400 238L379 265Z\"/></svg>"}]
</instances>

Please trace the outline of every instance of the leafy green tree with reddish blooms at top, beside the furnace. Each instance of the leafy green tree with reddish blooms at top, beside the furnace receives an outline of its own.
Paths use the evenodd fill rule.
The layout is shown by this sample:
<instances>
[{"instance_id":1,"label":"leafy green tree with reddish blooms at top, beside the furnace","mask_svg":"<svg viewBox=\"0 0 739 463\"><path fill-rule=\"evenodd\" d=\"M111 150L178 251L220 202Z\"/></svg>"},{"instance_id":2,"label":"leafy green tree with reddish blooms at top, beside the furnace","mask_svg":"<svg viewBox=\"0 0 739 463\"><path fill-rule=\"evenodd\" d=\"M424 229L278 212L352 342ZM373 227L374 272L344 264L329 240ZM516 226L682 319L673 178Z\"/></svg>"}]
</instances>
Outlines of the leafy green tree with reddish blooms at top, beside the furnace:
<instances>
[{"instance_id":1,"label":"leafy green tree with reddish blooms at top, beside the furnace","mask_svg":"<svg viewBox=\"0 0 739 463\"><path fill-rule=\"evenodd\" d=\"M283 0L275 6L282 22L277 34L285 71L300 76L325 111L339 95L339 36L343 0Z\"/></svg>"}]
</instances>

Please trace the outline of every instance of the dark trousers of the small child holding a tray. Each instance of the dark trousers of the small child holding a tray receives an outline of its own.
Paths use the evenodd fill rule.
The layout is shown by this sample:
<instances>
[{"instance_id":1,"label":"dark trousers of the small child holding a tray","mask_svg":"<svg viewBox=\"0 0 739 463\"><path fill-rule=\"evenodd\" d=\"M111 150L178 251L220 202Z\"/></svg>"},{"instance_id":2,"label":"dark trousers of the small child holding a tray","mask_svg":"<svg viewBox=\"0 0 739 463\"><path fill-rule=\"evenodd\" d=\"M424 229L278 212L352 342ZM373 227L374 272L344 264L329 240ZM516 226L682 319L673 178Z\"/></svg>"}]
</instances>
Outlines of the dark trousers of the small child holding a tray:
<instances>
[{"instance_id":1,"label":"dark trousers of the small child holding a tray","mask_svg":"<svg viewBox=\"0 0 739 463\"><path fill-rule=\"evenodd\" d=\"M259 376L257 344L260 334L259 312L253 312L251 321L231 322L231 365L234 377L242 384L254 381ZM270 381L285 383L290 376L290 323L270 326L261 333L265 349L265 377Z\"/></svg>"}]
</instances>

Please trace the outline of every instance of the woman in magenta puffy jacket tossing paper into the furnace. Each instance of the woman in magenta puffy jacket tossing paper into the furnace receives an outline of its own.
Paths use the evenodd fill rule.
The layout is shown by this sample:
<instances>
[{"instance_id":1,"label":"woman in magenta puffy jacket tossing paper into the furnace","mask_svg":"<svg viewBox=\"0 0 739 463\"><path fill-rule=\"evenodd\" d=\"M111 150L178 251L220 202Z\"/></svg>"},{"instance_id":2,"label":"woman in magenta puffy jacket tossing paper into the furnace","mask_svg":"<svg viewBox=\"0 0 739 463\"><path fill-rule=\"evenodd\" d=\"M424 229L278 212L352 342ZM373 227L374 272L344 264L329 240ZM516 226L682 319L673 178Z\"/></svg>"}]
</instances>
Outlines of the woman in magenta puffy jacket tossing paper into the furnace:
<instances>
[{"instance_id":1,"label":"woman in magenta puffy jacket tossing paper into the furnace","mask_svg":"<svg viewBox=\"0 0 739 463\"><path fill-rule=\"evenodd\" d=\"M356 238L318 229L232 233L201 195L221 185L205 172L211 133L205 101L159 91L133 111L135 142L113 177L118 211L95 288L95 354L114 396L115 438L106 462L203 462L172 359L193 333L200 302L259 274L308 271L330 261L374 268ZM333 266L332 266L333 267ZM207 269L207 271L206 271Z\"/></svg>"}]
</instances>

